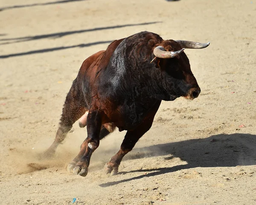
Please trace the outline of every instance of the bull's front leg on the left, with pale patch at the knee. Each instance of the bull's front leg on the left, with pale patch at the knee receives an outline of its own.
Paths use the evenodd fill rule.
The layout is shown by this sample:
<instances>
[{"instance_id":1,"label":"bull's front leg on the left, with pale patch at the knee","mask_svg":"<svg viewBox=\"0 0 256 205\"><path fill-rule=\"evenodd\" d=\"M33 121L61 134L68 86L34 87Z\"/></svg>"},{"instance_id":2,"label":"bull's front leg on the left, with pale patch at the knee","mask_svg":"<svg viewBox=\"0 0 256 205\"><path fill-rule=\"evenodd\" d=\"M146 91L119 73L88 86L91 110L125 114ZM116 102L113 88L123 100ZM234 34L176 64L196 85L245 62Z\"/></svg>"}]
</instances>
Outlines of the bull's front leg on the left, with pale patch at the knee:
<instances>
[{"instance_id":1,"label":"bull's front leg on the left, with pale patch at the knee","mask_svg":"<svg viewBox=\"0 0 256 205\"><path fill-rule=\"evenodd\" d=\"M80 159L73 168L74 174L80 176L87 175L92 153L99 147L101 126L102 114L98 110L90 110L87 116L87 139L84 140L78 156L73 160L73 162L77 162L77 160ZM69 166L73 167L72 162Z\"/></svg>"}]
</instances>

